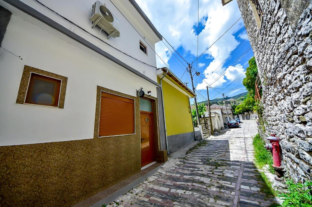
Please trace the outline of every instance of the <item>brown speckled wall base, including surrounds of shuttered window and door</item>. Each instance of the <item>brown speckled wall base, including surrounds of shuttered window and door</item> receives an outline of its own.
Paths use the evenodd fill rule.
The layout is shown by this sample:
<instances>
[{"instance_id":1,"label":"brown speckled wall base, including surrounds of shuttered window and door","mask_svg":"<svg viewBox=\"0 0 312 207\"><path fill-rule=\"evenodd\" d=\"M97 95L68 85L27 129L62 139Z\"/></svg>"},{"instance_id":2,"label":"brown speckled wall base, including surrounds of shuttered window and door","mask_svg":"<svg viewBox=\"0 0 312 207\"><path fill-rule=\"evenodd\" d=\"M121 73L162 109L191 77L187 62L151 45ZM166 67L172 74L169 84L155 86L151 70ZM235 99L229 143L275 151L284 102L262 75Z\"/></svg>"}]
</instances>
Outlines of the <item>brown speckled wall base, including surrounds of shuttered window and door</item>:
<instances>
[{"instance_id":1,"label":"brown speckled wall base, including surrounds of shuttered window and door","mask_svg":"<svg viewBox=\"0 0 312 207\"><path fill-rule=\"evenodd\" d=\"M98 86L97 100L101 90L135 99L136 134L1 146L0 206L71 206L140 172L139 97ZM151 98L156 100L153 110L157 112L157 98ZM95 129L98 116L97 106ZM154 123L158 132L157 113ZM158 134L155 159L164 162L167 152L158 150Z\"/></svg>"}]
</instances>

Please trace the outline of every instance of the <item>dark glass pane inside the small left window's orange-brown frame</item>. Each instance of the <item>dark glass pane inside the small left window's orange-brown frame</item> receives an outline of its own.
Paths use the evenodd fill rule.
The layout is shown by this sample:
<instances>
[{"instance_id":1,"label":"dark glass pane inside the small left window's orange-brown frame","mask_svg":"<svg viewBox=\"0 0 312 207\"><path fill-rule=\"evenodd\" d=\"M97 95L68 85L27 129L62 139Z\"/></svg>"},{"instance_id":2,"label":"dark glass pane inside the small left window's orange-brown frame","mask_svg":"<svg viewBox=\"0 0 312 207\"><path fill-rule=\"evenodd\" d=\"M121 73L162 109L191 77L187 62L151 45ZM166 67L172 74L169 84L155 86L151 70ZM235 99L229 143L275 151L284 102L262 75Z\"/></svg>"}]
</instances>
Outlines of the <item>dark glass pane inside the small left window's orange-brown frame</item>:
<instances>
[{"instance_id":1,"label":"dark glass pane inside the small left window's orange-brown frame","mask_svg":"<svg viewBox=\"0 0 312 207\"><path fill-rule=\"evenodd\" d=\"M35 79L31 100L39 103L52 104L55 83Z\"/></svg>"}]
</instances>

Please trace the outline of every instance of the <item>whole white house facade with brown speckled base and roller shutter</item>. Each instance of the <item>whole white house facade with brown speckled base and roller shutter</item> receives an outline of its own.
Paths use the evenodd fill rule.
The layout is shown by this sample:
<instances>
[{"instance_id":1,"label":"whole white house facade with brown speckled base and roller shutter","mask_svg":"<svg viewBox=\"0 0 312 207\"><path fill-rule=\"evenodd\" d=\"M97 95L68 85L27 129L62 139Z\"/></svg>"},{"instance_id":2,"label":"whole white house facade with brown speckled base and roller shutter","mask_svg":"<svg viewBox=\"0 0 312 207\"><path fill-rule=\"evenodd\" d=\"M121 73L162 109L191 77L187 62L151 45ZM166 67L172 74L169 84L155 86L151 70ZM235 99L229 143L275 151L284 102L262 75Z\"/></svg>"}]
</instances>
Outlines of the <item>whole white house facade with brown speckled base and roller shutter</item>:
<instances>
[{"instance_id":1,"label":"whole white house facade with brown speckled base and roller shutter","mask_svg":"<svg viewBox=\"0 0 312 207\"><path fill-rule=\"evenodd\" d=\"M9 189L1 192L3 195L10 197L10 192L16 191L20 198L28 198L29 205L42 202L73 205L138 173L144 156L140 140L142 99L137 95L141 88L146 94L150 91L143 98L151 104L152 159L159 162L167 159L158 133L160 85L154 53L154 44L162 36L135 1L104 0L101 3L118 18L120 32L119 37L107 39L99 26L91 28L94 3L94 0L0 1L1 11L5 11L1 20L10 15L0 42L0 156L3 166L9 166L2 174L7 177L4 185ZM50 105L36 102L36 90L47 90L43 85L35 90L36 78L47 78L45 84L49 81L59 84L51 93ZM116 100L121 97L120 103L128 101L133 108L125 114L114 111L118 104L112 104L107 110L115 116L111 117L113 122L107 122L101 111L105 108L103 93L117 97ZM121 120L120 126L116 125L117 118ZM104 127L114 123L111 124L114 132L109 129L102 132L102 121ZM124 127L128 123L129 129ZM115 130L121 134L114 134ZM127 130L130 132L122 134ZM7 154L17 161L12 162ZM65 172L65 168L71 170ZM14 174L13 169L25 170ZM60 172L54 175L54 181L48 169ZM11 189L12 183L21 182L29 184ZM37 182L45 186L34 188ZM77 187L81 185L88 190ZM60 192L70 190L76 192L66 195L68 199L59 197ZM36 197L39 192L49 193L43 193L40 200ZM16 204L22 202L17 199Z\"/></svg>"}]
</instances>

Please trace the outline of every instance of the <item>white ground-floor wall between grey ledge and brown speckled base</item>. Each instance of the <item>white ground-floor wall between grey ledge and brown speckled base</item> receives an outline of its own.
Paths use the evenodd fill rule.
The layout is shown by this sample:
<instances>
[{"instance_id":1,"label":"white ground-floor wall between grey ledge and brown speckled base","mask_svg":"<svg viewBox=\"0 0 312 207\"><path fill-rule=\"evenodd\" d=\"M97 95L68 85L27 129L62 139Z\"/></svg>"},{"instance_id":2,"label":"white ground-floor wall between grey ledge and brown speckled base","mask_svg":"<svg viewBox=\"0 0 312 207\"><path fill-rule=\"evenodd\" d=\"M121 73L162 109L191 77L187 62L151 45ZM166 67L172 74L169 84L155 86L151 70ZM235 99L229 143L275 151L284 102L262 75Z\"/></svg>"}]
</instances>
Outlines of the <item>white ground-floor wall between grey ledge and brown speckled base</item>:
<instances>
[{"instance_id":1,"label":"white ground-floor wall between grey ledge and brown speckled base","mask_svg":"<svg viewBox=\"0 0 312 207\"><path fill-rule=\"evenodd\" d=\"M143 87L157 96L152 83L38 20L13 14L2 47L23 58L5 51L0 57L2 146L92 138L97 85L132 96ZM68 77L64 109L15 103L24 65Z\"/></svg>"}]
</instances>

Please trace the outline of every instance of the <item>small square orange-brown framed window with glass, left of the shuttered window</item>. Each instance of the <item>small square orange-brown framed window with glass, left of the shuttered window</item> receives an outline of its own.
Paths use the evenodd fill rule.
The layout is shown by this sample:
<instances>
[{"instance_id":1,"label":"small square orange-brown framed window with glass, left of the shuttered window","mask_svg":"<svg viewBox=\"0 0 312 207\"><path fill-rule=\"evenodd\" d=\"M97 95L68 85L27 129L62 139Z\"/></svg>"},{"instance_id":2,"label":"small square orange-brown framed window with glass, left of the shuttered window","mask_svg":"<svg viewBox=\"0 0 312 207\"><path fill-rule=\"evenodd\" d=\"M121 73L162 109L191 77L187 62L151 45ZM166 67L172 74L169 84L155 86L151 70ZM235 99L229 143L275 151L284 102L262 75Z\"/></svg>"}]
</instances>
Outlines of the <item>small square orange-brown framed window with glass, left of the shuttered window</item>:
<instances>
[{"instance_id":1,"label":"small square orange-brown framed window with glass, left of the shuttered window","mask_svg":"<svg viewBox=\"0 0 312 207\"><path fill-rule=\"evenodd\" d=\"M25 103L57 107L61 82L55 78L31 73Z\"/></svg>"}]
</instances>

